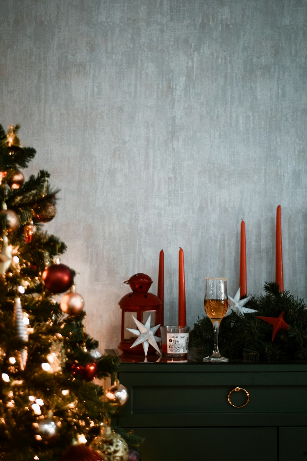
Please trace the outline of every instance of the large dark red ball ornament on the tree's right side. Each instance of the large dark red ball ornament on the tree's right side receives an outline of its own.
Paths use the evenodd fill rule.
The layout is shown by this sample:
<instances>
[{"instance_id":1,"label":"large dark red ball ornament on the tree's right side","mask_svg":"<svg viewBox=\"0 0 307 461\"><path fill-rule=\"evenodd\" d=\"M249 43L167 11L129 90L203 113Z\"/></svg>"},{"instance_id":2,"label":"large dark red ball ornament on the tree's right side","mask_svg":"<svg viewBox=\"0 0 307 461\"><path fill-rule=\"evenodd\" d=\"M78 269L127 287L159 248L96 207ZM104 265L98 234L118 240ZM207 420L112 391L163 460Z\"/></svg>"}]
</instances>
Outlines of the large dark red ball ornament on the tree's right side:
<instances>
[{"instance_id":1,"label":"large dark red ball ornament on the tree's right side","mask_svg":"<svg viewBox=\"0 0 307 461\"><path fill-rule=\"evenodd\" d=\"M74 274L65 264L53 264L42 273L42 279L47 290L52 293L63 293L74 281Z\"/></svg>"}]
</instances>

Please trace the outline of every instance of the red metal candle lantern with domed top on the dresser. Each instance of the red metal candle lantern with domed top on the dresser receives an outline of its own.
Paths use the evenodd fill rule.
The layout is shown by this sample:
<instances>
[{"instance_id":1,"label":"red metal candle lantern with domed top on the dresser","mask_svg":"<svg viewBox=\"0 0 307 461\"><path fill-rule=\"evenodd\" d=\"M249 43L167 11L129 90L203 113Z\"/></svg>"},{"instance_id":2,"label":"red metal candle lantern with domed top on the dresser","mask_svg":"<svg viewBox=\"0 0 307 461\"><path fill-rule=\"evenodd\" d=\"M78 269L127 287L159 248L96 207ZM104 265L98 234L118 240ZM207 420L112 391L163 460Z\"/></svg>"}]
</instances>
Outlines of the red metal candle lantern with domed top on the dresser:
<instances>
[{"instance_id":1,"label":"red metal candle lantern with domed top on the dresser","mask_svg":"<svg viewBox=\"0 0 307 461\"><path fill-rule=\"evenodd\" d=\"M142 344L130 349L136 337L127 328L137 329L133 317L145 324L150 315L151 327L162 324L162 302L153 293L148 293L152 284L149 275L139 272L126 280L124 284L130 285L132 293L127 293L118 303L122 309L122 338L118 347L124 352L143 354ZM159 334L159 330L156 334ZM155 353L156 351L149 346L148 352Z\"/></svg>"}]
</instances>

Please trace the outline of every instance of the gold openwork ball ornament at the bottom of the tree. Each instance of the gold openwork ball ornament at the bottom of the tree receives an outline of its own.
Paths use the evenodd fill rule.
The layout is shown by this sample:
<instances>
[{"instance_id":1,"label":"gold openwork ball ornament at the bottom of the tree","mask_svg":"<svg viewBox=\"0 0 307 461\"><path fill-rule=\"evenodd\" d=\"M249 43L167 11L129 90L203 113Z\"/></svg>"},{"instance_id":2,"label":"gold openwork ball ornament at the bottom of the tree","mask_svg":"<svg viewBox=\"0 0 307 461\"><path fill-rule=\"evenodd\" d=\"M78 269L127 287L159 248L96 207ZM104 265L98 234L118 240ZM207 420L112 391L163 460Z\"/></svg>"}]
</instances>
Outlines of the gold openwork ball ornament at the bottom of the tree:
<instances>
[{"instance_id":1,"label":"gold openwork ball ornament at the bottom of the tree","mask_svg":"<svg viewBox=\"0 0 307 461\"><path fill-rule=\"evenodd\" d=\"M127 461L128 445L110 426L101 424L100 434L93 439L90 448L104 455L106 461Z\"/></svg>"}]
</instances>

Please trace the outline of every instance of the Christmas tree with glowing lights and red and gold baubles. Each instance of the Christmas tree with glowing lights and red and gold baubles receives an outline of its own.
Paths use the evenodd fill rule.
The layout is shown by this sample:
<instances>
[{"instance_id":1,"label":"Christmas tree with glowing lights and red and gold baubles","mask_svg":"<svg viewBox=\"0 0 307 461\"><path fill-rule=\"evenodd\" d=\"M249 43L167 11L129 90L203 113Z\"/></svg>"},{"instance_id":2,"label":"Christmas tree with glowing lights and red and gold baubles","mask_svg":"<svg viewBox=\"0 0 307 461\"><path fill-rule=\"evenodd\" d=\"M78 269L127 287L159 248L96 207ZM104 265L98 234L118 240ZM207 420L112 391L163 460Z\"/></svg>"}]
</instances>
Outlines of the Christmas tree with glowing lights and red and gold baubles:
<instances>
[{"instance_id":1,"label":"Christmas tree with glowing lights and red and gold baubles","mask_svg":"<svg viewBox=\"0 0 307 461\"><path fill-rule=\"evenodd\" d=\"M25 181L18 130L0 126L0 459L109 459L87 447L115 411L94 378L116 364L84 329L66 246L43 230L58 191L47 171Z\"/></svg>"}]
</instances>

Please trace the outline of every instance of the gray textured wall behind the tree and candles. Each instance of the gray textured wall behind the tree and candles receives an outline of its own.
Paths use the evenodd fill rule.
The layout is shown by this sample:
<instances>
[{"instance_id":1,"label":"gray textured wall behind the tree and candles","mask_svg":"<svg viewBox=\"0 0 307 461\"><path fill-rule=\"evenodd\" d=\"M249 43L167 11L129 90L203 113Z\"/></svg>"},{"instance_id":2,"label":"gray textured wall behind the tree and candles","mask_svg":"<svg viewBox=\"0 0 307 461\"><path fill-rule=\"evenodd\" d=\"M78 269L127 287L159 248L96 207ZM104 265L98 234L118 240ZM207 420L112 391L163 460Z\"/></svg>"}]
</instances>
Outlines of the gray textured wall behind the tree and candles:
<instances>
[{"instance_id":1,"label":"gray textured wall behind the tree and candles","mask_svg":"<svg viewBox=\"0 0 307 461\"><path fill-rule=\"evenodd\" d=\"M185 251L188 324L205 276L307 295L306 0L1 0L1 120L61 188L46 230L68 245L87 330L120 339L122 282L165 253L166 322Z\"/></svg>"}]
</instances>

